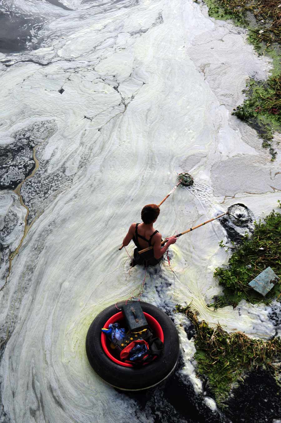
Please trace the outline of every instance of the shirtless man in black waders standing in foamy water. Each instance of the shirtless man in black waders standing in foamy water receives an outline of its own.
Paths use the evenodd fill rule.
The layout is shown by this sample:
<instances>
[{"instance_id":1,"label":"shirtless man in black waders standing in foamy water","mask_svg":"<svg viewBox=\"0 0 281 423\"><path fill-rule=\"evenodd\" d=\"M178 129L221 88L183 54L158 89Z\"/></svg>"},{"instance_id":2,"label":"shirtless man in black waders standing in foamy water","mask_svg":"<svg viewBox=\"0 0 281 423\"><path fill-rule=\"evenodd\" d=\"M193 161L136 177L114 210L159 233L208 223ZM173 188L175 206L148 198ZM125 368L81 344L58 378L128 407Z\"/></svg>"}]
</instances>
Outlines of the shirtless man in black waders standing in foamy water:
<instances>
[{"instance_id":1,"label":"shirtless man in black waders standing in foamy water","mask_svg":"<svg viewBox=\"0 0 281 423\"><path fill-rule=\"evenodd\" d=\"M134 249L134 259L132 266L136 264L145 264L145 266L155 266L162 259L163 255L168 250L171 244L175 244L177 238L171 236L168 242L161 247L161 233L153 228L153 223L156 222L159 216L160 209L156 204L147 204L142 209L142 222L143 223L132 223L127 235L123 239L123 245L126 247L131 239L133 239L136 248ZM139 254L139 250L153 246L153 249L146 251L145 253Z\"/></svg>"}]
</instances>

